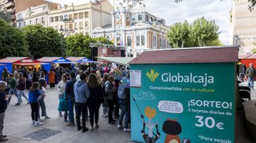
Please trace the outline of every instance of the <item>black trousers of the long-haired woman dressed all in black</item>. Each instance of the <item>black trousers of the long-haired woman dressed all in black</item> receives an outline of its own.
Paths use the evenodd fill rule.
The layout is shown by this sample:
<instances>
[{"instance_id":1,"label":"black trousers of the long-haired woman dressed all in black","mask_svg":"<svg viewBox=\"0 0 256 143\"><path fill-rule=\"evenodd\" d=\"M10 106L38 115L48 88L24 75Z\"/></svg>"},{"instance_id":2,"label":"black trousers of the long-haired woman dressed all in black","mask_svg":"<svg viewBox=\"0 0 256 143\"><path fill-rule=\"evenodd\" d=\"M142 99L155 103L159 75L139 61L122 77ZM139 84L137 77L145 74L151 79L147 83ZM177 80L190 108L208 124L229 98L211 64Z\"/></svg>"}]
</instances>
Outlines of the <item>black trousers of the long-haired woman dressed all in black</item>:
<instances>
[{"instance_id":1,"label":"black trousers of the long-haired woman dressed all in black","mask_svg":"<svg viewBox=\"0 0 256 143\"><path fill-rule=\"evenodd\" d=\"M91 126L94 126L94 116L95 123L98 124L98 112L100 110L101 104L88 104L89 113L90 113L90 123Z\"/></svg>"}]
</instances>

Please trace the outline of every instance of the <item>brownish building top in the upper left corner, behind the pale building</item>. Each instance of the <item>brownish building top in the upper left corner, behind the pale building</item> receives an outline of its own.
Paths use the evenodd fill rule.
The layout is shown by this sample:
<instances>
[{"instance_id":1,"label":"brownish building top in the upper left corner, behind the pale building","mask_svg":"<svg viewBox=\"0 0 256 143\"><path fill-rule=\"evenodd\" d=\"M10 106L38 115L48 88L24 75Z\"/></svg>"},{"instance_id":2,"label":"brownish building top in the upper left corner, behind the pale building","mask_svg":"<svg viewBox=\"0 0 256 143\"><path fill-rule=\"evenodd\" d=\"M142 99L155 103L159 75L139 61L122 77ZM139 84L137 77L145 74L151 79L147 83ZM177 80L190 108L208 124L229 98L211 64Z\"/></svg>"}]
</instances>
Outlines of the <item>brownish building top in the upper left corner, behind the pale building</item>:
<instances>
[{"instance_id":1,"label":"brownish building top in the upper left corner, behind the pale building","mask_svg":"<svg viewBox=\"0 0 256 143\"><path fill-rule=\"evenodd\" d=\"M12 14L12 22L16 20L16 13L25 11L32 6L40 6L42 4L49 4L52 9L57 9L58 4L44 0L0 0L0 11L8 11Z\"/></svg>"}]
</instances>

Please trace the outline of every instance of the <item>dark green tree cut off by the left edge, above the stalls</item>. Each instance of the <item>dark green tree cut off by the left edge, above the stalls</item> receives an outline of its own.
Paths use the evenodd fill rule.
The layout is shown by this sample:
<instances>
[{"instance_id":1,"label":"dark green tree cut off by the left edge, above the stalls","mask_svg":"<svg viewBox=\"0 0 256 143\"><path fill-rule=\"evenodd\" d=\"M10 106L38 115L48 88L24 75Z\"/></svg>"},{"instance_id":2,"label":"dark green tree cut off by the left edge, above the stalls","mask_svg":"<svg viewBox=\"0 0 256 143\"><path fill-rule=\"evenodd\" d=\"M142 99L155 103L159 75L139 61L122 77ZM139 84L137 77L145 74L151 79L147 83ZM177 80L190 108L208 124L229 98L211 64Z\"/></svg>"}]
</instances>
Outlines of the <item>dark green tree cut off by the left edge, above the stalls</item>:
<instances>
[{"instance_id":1,"label":"dark green tree cut off by the left edge, above the stalls","mask_svg":"<svg viewBox=\"0 0 256 143\"><path fill-rule=\"evenodd\" d=\"M29 55L23 32L0 20L0 58Z\"/></svg>"}]
</instances>

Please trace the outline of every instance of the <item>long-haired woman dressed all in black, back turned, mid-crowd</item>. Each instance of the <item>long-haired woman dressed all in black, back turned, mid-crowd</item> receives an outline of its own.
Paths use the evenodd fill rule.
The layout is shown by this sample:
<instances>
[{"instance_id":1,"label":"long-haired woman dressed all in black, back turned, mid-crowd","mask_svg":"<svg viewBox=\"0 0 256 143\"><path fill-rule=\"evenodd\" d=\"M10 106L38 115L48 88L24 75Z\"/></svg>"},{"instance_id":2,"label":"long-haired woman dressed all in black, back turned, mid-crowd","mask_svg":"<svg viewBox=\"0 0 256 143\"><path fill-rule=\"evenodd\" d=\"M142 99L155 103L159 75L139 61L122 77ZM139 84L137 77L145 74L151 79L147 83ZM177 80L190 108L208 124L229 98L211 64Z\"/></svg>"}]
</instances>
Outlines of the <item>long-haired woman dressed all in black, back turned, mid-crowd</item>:
<instances>
[{"instance_id":1,"label":"long-haired woman dressed all in black, back turned, mid-crowd","mask_svg":"<svg viewBox=\"0 0 256 143\"><path fill-rule=\"evenodd\" d=\"M88 99L88 108L90 113L90 123L91 130L94 130L94 119L95 119L95 128L99 128L98 125L98 111L103 103L103 93L101 88L101 83L98 82L96 74L89 74L87 79L87 86L90 90L90 97Z\"/></svg>"}]
</instances>

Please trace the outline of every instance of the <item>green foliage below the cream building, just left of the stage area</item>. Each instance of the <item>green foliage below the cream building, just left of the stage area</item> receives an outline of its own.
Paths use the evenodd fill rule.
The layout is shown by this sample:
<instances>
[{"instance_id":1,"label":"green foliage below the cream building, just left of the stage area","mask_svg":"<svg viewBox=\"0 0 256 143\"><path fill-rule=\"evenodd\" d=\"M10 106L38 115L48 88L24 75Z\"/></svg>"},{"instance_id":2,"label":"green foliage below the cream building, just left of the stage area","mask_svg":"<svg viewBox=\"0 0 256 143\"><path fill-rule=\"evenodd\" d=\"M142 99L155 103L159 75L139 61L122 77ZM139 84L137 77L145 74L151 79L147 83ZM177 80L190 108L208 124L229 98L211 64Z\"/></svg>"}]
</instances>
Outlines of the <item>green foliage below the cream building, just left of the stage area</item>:
<instances>
[{"instance_id":1,"label":"green foliage below the cream building, just left of the stage area","mask_svg":"<svg viewBox=\"0 0 256 143\"><path fill-rule=\"evenodd\" d=\"M103 37L91 38L83 34L74 34L68 36L65 41L67 42L66 54L71 57L91 57L90 43L105 43L113 44L108 39Z\"/></svg>"}]
</instances>

